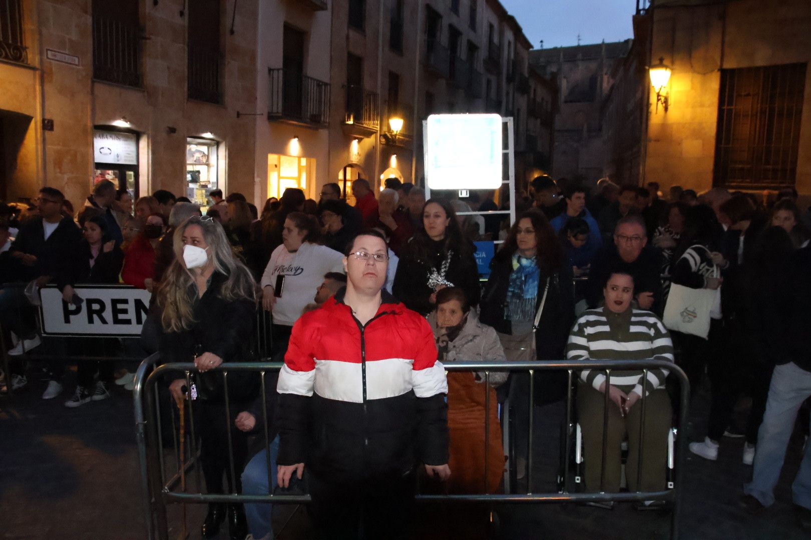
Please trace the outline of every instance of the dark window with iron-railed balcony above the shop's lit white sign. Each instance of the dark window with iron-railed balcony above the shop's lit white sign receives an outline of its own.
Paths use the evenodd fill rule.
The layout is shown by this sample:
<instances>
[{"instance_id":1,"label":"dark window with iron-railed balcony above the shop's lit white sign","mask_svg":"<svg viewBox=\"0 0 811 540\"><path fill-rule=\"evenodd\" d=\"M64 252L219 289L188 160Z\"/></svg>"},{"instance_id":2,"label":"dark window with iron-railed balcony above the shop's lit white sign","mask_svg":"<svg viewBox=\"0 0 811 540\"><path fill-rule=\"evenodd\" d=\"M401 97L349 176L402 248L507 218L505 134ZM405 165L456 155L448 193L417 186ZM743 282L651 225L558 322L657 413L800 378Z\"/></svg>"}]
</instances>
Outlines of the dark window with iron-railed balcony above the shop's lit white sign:
<instances>
[{"instance_id":1,"label":"dark window with iron-railed balcony above the shop's lit white sign","mask_svg":"<svg viewBox=\"0 0 811 540\"><path fill-rule=\"evenodd\" d=\"M93 79L140 87L138 0L93 0Z\"/></svg>"}]
</instances>

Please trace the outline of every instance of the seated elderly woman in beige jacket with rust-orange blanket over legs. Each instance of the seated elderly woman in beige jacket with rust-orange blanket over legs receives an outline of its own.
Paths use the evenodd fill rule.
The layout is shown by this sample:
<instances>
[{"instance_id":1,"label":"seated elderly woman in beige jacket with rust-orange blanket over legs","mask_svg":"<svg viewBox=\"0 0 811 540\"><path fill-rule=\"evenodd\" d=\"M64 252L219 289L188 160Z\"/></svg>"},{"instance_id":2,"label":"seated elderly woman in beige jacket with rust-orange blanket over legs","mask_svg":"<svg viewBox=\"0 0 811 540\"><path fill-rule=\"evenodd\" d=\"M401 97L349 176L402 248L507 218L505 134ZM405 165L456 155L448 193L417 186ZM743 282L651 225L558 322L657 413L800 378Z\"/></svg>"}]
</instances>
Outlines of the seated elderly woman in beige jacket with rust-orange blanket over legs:
<instances>
[{"instance_id":1,"label":"seated elderly woman in beige jacket with rust-orange blanket over legs","mask_svg":"<svg viewBox=\"0 0 811 540\"><path fill-rule=\"evenodd\" d=\"M460 287L446 287L436 293L436 311L428 316L436 336L439 360L448 362L494 362L506 360L496 330L478 321L475 310ZM451 493L492 493L499 487L504 471L504 449L497 413L495 387L507 381L507 372L448 373L448 430L451 436L450 461L453 476ZM487 406L487 394L490 403ZM490 419L487 440L485 418ZM485 477L485 444L487 476Z\"/></svg>"}]
</instances>

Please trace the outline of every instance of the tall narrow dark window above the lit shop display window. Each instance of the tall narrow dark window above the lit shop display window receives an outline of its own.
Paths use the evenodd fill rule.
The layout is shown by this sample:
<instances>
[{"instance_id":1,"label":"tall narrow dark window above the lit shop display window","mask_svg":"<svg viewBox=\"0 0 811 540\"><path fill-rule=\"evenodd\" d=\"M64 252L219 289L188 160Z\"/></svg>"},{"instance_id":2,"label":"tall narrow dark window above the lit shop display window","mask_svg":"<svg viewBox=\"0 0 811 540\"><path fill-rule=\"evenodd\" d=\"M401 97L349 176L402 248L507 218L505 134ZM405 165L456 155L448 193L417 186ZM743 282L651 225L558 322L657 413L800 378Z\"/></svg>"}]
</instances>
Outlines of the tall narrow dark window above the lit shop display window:
<instances>
[{"instance_id":1,"label":"tall narrow dark window above the lit shop display window","mask_svg":"<svg viewBox=\"0 0 811 540\"><path fill-rule=\"evenodd\" d=\"M189 4L188 96L191 100L221 103L220 0Z\"/></svg>"}]
</instances>

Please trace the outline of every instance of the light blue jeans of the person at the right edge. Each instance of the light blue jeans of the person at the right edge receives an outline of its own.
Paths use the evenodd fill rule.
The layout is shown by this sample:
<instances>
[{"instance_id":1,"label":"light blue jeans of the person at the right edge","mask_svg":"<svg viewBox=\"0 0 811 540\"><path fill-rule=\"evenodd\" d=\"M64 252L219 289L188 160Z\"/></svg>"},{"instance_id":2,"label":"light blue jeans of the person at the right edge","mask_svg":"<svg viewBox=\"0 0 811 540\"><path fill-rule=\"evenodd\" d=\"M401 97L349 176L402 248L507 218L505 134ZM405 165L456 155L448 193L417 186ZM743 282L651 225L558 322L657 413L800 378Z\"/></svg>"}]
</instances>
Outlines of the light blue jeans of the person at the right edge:
<instances>
[{"instance_id":1,"label":"light blue jeans of the person at the right edge","mask_svg":"<svg viewBox=\"0 0 811 540\"><path fill-rule=\"evenodd\" d=\"M811 396L811 372L790 362L775 367L766 401L766 413L757 433L752 482L744 485L744 493L763 504L775 502L775 485L783 469L788 440L794 431L797 411ZM795 504L811 509L811 444L805 447L805 456L792 485Z\"/></svg>"}]
</instances>

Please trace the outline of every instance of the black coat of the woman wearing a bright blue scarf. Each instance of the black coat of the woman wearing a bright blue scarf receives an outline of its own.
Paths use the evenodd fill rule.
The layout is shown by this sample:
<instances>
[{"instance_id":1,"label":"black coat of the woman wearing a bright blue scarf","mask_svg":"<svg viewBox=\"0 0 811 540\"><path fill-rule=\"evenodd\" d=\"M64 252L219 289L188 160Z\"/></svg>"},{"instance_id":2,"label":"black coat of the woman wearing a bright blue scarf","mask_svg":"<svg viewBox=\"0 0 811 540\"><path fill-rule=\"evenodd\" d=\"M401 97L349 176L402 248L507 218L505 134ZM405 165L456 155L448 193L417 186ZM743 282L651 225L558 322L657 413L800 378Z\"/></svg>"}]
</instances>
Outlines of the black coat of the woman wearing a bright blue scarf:
<instances>
[{"instance_id":1,"label":"black coat of the woman wearing a bright blue scarf","mask_svg":"<svg viewBox=\"0 0 811 540\"><path fill-rule=\"evenodd\" d=\"M501 334L513 334L512 322L504 317L507 305L509 277L513 273L512 254L500 252L491 262L491 274L482 293L479 319ZM569 330L574 323L574 296L572 271L563 265L559 270L541 269L538 283L538 300L535 313L540 307L543 290L549 279L547 300L535 331L535 348L539 360L564 358ZM534 319L534 316L533 316ZM535 372L535 402L542 405L556 402L564 397L568 381L565 371Z\"/></svg>"}]
</instances>

